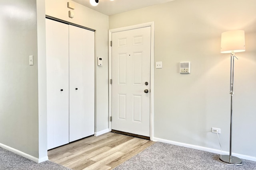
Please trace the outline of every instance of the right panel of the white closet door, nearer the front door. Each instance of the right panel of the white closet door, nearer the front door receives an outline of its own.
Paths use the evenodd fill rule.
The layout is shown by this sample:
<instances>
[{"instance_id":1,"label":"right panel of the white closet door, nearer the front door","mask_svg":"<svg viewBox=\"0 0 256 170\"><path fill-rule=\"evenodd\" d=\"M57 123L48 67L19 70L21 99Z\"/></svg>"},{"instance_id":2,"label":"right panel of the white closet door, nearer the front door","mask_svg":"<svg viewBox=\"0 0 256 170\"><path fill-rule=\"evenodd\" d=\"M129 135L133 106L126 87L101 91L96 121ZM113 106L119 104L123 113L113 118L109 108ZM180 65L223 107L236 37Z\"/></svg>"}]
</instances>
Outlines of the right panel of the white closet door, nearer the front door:
<instances>
[{"instance_id":1,"label":"right panel of the white closet door, nearer the front door","mask_svg":"<svg viewBox=\"0 0 256 170\"><path fill-rule=\"evenodd\" d=\"M69 142L94 135L94 31L69 25Z\"/></svg>"}]
</instances>

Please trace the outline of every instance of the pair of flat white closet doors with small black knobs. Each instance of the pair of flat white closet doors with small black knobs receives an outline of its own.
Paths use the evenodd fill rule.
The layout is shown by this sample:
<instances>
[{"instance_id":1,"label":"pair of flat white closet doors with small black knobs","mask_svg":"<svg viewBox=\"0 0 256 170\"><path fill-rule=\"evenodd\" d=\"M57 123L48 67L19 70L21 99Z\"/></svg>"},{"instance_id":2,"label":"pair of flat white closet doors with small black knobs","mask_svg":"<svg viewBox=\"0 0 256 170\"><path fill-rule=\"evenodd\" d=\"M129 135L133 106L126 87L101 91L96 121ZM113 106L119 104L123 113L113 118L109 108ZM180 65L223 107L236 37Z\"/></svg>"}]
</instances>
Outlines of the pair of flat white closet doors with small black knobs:
<instances>
[{"instance_id":1,"label":"pair of flat white closet doors with small black knobs","mask_svg":"<svg viewBox=\"0 0 256 170\"><path fill-rule=\"evenodd\" d=\"M94 31L46 19L48 149L94 135Z\"/></svg>"}]
</instances>

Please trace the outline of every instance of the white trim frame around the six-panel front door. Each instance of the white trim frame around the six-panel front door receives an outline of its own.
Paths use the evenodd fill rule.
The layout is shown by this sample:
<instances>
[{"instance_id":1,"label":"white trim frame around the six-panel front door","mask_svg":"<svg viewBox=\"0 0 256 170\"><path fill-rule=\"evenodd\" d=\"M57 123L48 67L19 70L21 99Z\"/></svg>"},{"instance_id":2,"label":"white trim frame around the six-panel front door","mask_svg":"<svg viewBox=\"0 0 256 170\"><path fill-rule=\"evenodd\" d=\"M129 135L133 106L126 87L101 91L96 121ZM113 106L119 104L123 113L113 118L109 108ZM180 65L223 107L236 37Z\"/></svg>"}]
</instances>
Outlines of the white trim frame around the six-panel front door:
<instances>
[{"instance_id":1,"label":"white trim frame around the six-panel front door","mask_svg":"<svg viewBox=\"0 0 256 170\"><path fill-rule=\"evenodd\" d=\"M112 47L110 42L112 41L112 33L127 31L130 29L138 29L142 27L151 27L151 47L150 47L150 140L153 141L153 115L154 115L154 21L148 23L141 23L138 25L131 25L127 27L120 27L116 29L108 30L108 130L112 130L112 123L110 117L112 116Z\"/></svg>"}]
</instances>

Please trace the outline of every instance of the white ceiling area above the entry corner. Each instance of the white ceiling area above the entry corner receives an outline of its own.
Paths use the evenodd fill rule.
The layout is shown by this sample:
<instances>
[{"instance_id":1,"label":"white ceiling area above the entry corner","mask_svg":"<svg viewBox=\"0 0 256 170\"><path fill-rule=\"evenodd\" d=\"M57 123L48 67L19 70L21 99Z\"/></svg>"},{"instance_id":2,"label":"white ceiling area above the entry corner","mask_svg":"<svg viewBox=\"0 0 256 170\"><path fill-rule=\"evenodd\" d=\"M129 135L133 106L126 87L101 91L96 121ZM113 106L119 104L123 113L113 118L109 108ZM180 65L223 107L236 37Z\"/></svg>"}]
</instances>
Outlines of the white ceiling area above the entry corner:
<instances>
[{"instance_id":1,"label":"white ceiling area above the entry corner","mask_svg":"<svg viewBox=\"0 0 256 170\"><path fill-rule=\"evenodd\" d=\"M173 0L99 0L98 6L92 6L90 0L73 0L78 4L96 10L105 15L118 14L147 6L162 4Z\"/></svg>"}]
</instances>

